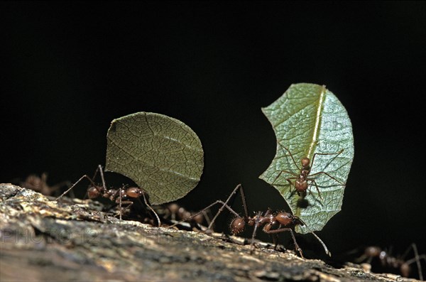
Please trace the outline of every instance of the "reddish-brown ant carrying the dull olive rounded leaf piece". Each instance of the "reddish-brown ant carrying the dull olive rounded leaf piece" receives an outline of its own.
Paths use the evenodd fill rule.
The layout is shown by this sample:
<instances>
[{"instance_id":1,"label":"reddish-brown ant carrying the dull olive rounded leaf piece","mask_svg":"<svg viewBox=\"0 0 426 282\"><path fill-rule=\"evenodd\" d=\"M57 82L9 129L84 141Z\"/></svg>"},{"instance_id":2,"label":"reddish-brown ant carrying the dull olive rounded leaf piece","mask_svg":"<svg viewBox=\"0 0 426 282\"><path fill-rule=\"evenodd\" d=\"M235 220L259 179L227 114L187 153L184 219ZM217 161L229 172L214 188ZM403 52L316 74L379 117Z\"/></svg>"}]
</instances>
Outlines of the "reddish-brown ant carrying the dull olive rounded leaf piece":
<instances>
[{"instance_id":1,"label":"reddish-brown ant carrying the dull olive rounded leaf piece","mask_svg":"<svg viewBox=\"0 0 426 282\"><path fill-rule=\"evenodd\" d=\"M101 180L102 180L102 185L96 185L94 183L94 178L96 178L97 173L99 172L99 174L101 175ZM104 197L107 198L109 200L111 200L112 202L119 204L120 207L120 220L122 219L121 215L122 215L122 209L121 209L121 205L127 205L126 209L128 209L129 207L131 207L131 205L133 205L133 201L131 201L131 199L138 199L140 197L143 197L143 202L145 202L145 205L153 212L153 214L155 215L157 222L158 222L158 227L160 227L160 218L158 217L157 213L153 210L153 208L151 207L151 205L148 204L148 200L147 200L147 195L146 192L143 191L141 188L138 187L129 187L129 188L119 188L119 189L107 189L107 186L105 185L105 180L104 180L104 172L102 170L102 166L99 165L96 169L96 171L94 172L94 176L93 178L89 178L88 175L83 175L79 180L77 180L76 183L74 183L68 190L66 190L65 192L62 193L62 195L60 195L58 198L56 198L56 200L59 200L61 197L63 197L65 194L67 194L68 191L72 190L72 188L75 187L75 185L77 185L77 183L80 183L80 181L82 181L84 178L86 178L87 180L89 180L89 183L92 185L89 188L87 188L87 196L89 197L89 199L94 199L97 197Z\"/></svg>"}]
</instances>

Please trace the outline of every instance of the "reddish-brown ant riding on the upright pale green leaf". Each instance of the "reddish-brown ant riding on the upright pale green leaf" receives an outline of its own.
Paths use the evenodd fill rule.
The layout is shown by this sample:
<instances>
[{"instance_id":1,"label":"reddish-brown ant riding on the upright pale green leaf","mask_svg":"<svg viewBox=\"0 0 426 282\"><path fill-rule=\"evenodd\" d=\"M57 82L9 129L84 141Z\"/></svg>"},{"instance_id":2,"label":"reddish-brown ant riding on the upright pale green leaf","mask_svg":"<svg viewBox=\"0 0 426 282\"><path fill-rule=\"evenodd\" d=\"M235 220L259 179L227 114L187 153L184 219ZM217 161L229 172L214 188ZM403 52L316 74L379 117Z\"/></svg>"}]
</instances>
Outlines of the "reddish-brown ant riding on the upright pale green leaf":
<instances>
[{"instance_id":1,"label":"reddish-brown ant riding on the upright pale green leaf","mask_svg":"<svg viewBox=\"0 0 426 282\"><path fill-rule=\"evenodd\" d=\"M275 181L280 177L280 175L282 173L288 173L290 175L293 175L293 178L286 178L287 182L290 183L290 187L293 186L295 188L295 191L297 192L297 195L299 195L300 197L304 198L306 196L306 190L309 187L308 185L308 181L310 181L310 183L314 183L315 188L317 188L317 192L318 195L321 197L321 193L320 193L320 189L318 188L317 182L315 181L316 178L313 178L312 176L315 175L320 175L320 174L324 174L327 175L329 178L332 178L333 180L335 180L337 183L341 184L341 185L345 185L345 183L342 183L341 181L337 180L336 178L334 178L332 175L330 175L329 173L326 173L325 171L319 171L317 173L313 173L310 174L311 170L312 170L312 166L314 165L314 161L315 161L315 156L317 155L322 155L322 156L327 156L327 155L336 155L339 156L339 154L341 154L344 150L340 150L336 153L314 153L314 156L312 156L312 162L310 161L310 158L302 158L300 163L302 165L302 168L300 168L296 161L295 158L293 158L293 154L290 152L290 150L288 148L286 148L285 146L283 146L281 143L279 143L281 147L285 148L285 151L288 151L288 153L290 153L290 158L293 160L293 163L295 164L295 166L297 167L298 170L300 170L300 173L293 173L291 171L288 170L281 170L280 173L278 173L278 175L275 177L275 179L273 180L273 184L275 183ZM334 157L334 158L336 158ZM294 180L294 183L292 183L291 180Z\"/></svg>"}]
</instances>

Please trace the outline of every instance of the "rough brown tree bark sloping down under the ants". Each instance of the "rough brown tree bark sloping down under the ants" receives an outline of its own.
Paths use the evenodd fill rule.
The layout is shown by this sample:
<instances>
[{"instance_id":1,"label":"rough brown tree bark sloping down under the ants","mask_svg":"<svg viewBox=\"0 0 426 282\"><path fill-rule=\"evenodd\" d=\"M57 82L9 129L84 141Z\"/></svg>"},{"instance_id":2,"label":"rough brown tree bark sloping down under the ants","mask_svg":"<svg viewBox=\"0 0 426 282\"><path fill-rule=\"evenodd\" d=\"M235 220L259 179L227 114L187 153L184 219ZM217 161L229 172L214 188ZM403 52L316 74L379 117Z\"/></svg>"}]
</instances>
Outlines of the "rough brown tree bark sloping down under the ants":
<instances>
[{"instance_id":1,"label":"rough brown tree bark sloping down under the ants","mask_svg":"<svg viewBox=\"0 0 426 282\"><path fill-rule=\"evenodd\" d=\"M98 202L56 202L11 184L0 184L0 226L1 281L414 281L120 221Z\"/></svg>"}]
</instances>

